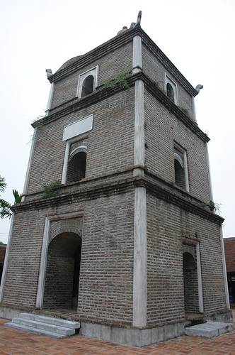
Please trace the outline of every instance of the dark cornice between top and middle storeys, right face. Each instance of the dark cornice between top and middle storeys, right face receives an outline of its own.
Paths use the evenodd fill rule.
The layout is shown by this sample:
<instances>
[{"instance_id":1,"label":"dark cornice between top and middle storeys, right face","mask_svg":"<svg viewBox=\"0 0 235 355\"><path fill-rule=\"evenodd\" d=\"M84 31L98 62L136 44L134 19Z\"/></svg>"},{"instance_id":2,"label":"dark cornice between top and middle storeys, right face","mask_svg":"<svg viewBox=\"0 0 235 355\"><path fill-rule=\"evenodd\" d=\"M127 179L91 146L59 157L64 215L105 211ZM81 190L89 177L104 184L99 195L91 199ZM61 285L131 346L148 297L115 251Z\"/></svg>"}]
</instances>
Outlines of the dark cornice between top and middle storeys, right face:
<instances>
[{"instance_id":1,"label":"dark cornice between top and middle storeys, right face","mask_svg":"<svg viewBox=\"0 0 235 355\"><path fill-rule=\"evenodd\" d=\"M146 84L146 89L154 96L156 99L159 99L159 101L164 104L164 106L171 111L180 121L185 124L191 131L193 131L199 138L202 139L204 142L209 142L210 138L205 134L198 126L195 124L195 122L190 119L183 111L180 110L180 108L174 104L164 92L159 89L159 87L156 86L154 82L151 81L151 79L144 74L143 72L137 73L135 75L135 80L142 79L144 81L144 84Z\"/></svg>"}]
</instances>

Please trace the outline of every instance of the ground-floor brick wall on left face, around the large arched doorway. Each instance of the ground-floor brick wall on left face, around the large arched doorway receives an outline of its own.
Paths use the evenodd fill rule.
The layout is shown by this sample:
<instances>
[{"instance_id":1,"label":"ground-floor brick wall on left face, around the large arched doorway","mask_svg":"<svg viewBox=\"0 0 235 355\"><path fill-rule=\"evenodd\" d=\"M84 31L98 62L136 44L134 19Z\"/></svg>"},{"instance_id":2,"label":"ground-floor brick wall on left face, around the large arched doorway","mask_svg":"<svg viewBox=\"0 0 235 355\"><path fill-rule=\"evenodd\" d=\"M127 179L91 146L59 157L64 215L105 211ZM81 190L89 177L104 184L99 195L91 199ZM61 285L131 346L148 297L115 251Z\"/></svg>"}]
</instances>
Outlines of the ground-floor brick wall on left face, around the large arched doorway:
<instances>
[{"instance_id":1,"label":"ground-floor brick wall on left face, around the large arched doorway","mask_svg":"<svg viewBox=\"0 0 235 355\"><path fill-rule=\"evenodd\" d=\"M45 216L84 209L78 314L132 322L134 192L17 212L3 302L35 307Z\"/></svg>"}]
</instances>

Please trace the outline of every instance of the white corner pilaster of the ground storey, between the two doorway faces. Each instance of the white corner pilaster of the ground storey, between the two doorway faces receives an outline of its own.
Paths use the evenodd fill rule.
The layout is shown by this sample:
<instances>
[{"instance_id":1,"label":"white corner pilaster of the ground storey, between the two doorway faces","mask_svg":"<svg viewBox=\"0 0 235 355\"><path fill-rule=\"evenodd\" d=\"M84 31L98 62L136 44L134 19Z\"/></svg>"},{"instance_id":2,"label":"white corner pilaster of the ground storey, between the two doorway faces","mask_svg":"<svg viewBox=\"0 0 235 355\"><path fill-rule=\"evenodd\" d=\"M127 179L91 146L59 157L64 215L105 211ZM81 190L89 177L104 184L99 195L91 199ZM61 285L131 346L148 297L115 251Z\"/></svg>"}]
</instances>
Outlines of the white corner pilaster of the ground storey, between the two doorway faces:
<instances>
[{"instance_id":1,"label":"white corner pilaster of the ground storey, between the two doorway faces","mask_svg":"<svg viewBox=\"0 0 235 355\"><path fill-rule=\"evenodd\" d=\"M147 199L146 189L134 190L133 326L147 325Z\"/></svg>"}]
</instances>

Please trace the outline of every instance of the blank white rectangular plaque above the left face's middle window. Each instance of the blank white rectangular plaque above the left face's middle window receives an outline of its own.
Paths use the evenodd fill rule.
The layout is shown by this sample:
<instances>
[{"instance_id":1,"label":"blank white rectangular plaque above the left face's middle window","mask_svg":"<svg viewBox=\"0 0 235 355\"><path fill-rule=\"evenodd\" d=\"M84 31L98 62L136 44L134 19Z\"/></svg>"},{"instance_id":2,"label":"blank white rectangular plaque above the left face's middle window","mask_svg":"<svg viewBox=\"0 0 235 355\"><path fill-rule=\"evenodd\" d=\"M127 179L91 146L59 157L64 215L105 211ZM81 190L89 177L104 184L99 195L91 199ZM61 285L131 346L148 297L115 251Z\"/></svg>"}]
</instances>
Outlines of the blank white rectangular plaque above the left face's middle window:
<instances>
[{"instance_id":1,"label":"blank white rectangular plaque above the left face's middle window","mask_svg":"<svg viewBox=\"0 0 235 355\"><path fill-rule=\"evenodd\" d=\"M68 124L64 126L63 141L79 136L79 134L91 131L93 126L93 114L74 122L73 124Z\"/></svg>"}]
</instances>

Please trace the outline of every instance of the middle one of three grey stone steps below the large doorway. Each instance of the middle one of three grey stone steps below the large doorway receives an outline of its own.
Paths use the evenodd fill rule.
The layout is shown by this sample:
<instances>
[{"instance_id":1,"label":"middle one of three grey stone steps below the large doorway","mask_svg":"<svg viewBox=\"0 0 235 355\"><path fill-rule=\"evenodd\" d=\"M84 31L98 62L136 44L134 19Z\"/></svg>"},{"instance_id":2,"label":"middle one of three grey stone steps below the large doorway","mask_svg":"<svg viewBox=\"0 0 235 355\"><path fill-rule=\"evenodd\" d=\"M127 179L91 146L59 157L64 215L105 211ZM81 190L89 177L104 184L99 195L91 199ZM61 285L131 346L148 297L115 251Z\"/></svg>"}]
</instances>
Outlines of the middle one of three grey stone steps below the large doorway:
<instances>
[{"instance_id":1,"label":"middle one of three grey stone steps below the large doorway","mask_svg":"<svg viewBox=\"0 0 235 355\"><path fill-rule=\"evenodd\" d=\"M25 320L25 318L13 318L11 321L14 324L25 325L25 327L38 328L42 330L47 330L48 332L55 332L63 334L65 336L75 334L75 329L69 327L61 327L60 325L53 325L48 323L39 322L38 320Z\"/></svg>"}]
</instances>

